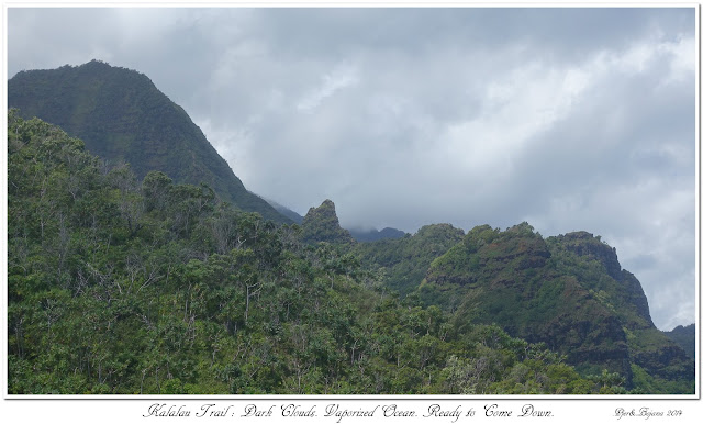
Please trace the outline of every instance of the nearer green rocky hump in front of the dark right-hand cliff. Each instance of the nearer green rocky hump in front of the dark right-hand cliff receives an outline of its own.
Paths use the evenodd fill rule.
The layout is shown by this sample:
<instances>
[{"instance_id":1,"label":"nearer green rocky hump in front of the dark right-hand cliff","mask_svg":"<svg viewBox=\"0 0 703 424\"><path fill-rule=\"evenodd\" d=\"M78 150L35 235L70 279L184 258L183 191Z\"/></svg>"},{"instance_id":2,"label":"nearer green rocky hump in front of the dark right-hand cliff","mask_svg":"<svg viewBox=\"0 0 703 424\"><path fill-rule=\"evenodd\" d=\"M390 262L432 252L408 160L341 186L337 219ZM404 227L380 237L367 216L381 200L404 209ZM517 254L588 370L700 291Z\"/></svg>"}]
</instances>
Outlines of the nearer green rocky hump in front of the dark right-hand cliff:
<instances>
[{"instance_id":1,"label":"nearer green rocky hump in front of the dark right-hand cliff","mask_svg":"<svg viewBox=\"0 0 703 424\"><path fill-rule=\"evenodd\" d=\"M631 377L617 316L556 269L547 243L527 223L504 232L488 225L471 230L432 264L421 292L460 299L455 314L460 331L495 323L515 336L544 342L585 373L606 368Z\"/></svg>"}]
</instances>

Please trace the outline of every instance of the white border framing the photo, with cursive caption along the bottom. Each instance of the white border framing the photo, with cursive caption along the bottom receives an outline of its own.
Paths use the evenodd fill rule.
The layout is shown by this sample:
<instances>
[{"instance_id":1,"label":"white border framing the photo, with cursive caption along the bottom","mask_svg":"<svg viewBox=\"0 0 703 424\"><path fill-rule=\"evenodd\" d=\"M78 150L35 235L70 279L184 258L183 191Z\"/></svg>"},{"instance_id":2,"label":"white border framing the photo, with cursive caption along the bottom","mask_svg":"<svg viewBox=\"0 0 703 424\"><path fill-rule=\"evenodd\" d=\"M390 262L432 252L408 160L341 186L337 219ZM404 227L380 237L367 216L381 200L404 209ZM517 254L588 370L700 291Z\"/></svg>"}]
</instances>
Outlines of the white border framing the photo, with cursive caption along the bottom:
<instances>
[{"instance_id":1,"label":"white border framing the photo, with cursive caption along the bottom","mask_svg":"<svg viewBox=\"0 0 703 424\"><path fill-rule=\"evenodd\" d=\"M673 408L683 409L684 415L678 420L679 422L689 422L694 415L703 416L703 404L701 403L701 5L700 3L637 3L637 2L617 2L617 3L531 3L531 2L467 2L467 1L449 1L438 3L416 2L416 1L356 1L356 2L324 2L324 1L242 1L242 2L217 2L207 1L203 3L192 3L183 1L150 1L147 3L133 3L133 2L94 2L94 1L43 1L43 2L18 2L8 1L2 2L2 76L4 80L8 80L8 41L7 41L7 23L8 23L8 9L18 7L56 7L56 8L72 8L72 7L119 7L119 8L152 8L152 7L178 7L178 8L208 8L208 7L256 7L256 8L277 8L277 7L326 7L326 8L339 8L339 7L364 7L364 8L379 8L379 7L413 7L413 8L437 8L437 7L470 7L470 8L515 8L515 7L531 7L531 8L581 8L581 7L595 7L595 8L614 8L614 7L645 7L645 8L695 8L695 38L696 38L696 78L695 78L695 316L696 316L696 381L695 381L695 394L683 395L16 395L8 394L8 362L7 362L7 343L8 343L8 330L7 330L7 83L2 85L0 93L3 99L3 113L2 113L2 141L3 149L0 153L2 155L2 178L0 179L0 190L4 193L5 201L0 203L0 213L2 214L2 222L0 223L0 230L5 234L5 238L0 242L0 255L4 260L0 263L0 278L2 283L1 290L1 305L3 309L0 314L0 334L3 350L0 353L2 364L0 365L0 381L2 381L3 388L3 401L0 401L0 416L13 416L18 420L25 421L32 417L42 417L43 421L54 420L56 417L64 416L71 422L94 422L96 420L107 422L123 422L125 419L136 419L144 414L147 414L148 406L154 403L166 403L174 405L186 404L196 412L199 411L200 405L204 403L215 403L217 406L226 406L227 404L236 403L238 406L236 411L241 412L244 406L249 403L260 404L260 409L265 409L266 405L276 405L275 410L282 404L295 403L303 404L303 409L309 409L310 405L315 405L319 413L317 421L320 422L336 422L336 419L324 417L324 405L328 403L343 403L350 410L358 410L361 408L373 408L373 405L380 404L393 404L399 403L399 409L414 408L421 415L426 411L426 406L433 403L440 403L444 410L453 410L457 405L462 405L464 411L468 408L473 408L476 411L475 419L483 419L482 408L488 404L498 403L501 409L505 404L511 405L513 410L520 410L520 405L526 403L534 403L537 409L550 409L553 411L560 411L557 416L570 415L569 420L584 419L588 422L592 422L594 419L599 421L614 420L617 422L626 422L627 417L620 420L615 416L614 411L617 408L624 408L626 411L636 410L641 408L649 408L650 410L666 410L671 409L665 406L665 404L673 404ZM123 402L113 402L114 400L121 400ZM90 401L90 402L56 402L56 401ZM127 402L124 402L127 401ZM205 402L211 401L211 402ZM517 402L521 401L521 402ZM585 403L583 403L585 401ZM692 402L693 401L693 402ZM422 404L423 406L415 408L412 404ZM673 403L672 403L673 402ZM537 405L548 406L542 408ZM87 409L87 413L76 413L76 406L79 409ZM445 408L446 406L446 408ZM178 408L178 406L177 406ZM580 414L572 414L570 411L582 411ZM9 415L5 415L9 412ZM690 411L690 412L689 412ZM695 413L693 413L695 411ZM566 413L565 413L566 412ZM590 414L594 412L595 415ZM107 414L105 414L107 413ZM280 416L280 411L277 411ZM277 413L274 416L277 416ZM378 417L382 417L381 411L377 411ZM233 415L234 419L241 420L239 415ZM375 415L376 420L377 416ZM512 419L512 417L511 417ZM659 422L661 419L651 417ZM181 419L182 420L182 419ZM198 420L191 416L186 420ZM201 420L201 419L200 419ZM259 419L260 420L260 419ZM266 419L265 419L266 420ZM315 420L315 419L309 419ZM369 419L344 419L345 423L357 422ZM414 419L410 419L413 421ZM442 422L453 422L454 419L426 419L426 420L442 420ZM459 421L471 420L470 417L461 419ZM629 419L629 420L645 420L645 417ZM32 420L33 421L33 420ZM201 420L202 421L202 420ZM459 422L456 421L456 422ZM561 420L559 420L561 421ZM668 420L667 420L668 421ZM438 421L437 421L438 422Z\"/></svg>"}]
</instances>

